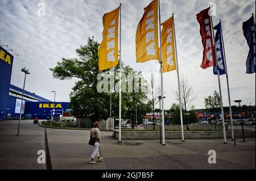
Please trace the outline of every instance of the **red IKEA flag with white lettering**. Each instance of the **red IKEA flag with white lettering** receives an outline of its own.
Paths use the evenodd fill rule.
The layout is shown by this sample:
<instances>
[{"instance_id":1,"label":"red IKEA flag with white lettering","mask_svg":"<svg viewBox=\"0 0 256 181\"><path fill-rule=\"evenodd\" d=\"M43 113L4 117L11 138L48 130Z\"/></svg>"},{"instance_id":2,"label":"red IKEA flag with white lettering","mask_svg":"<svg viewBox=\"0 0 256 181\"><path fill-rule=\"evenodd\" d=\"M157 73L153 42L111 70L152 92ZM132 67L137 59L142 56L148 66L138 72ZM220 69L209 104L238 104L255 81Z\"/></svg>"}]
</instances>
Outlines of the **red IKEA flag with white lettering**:
<instances>
[{"instance_id":1,"label":"red IKEA flag with white lettering","mask_svg":"<svg viewBox=\"0 0 256 181\"><path fill-rule=\"evenodd\" d=\"M210 23L210 16L208 14L209 10L210 7L199 12L199 14L196 15L196 19L200 24L200 34L202 37L202 44L204 47L203 61L201 64L201 68L203 69L209 68L210 66L214 66L216 62L212 39L212 25Z\"/></svg>"}]
</instances>

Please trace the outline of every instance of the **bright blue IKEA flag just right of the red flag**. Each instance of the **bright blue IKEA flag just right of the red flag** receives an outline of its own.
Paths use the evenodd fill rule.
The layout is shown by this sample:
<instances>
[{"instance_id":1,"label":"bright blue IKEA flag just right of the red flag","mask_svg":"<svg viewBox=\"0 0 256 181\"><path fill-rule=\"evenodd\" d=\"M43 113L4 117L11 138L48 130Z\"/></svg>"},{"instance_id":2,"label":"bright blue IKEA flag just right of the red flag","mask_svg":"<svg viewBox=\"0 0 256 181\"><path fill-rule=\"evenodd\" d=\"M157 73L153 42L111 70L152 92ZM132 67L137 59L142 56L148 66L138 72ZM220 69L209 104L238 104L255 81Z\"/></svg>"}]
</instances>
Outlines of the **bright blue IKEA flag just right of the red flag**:
<instances>
[{"instance_id":1,"label":"bright blue IKEA flag just right of the red flag","mask_svg":"<svg viewBox=\"0 0 256 181\"><path fill-rule=\"evenodd\" d=\"M226 74L225 71L225 60L223 55L223 46L222 46L222 36L221 36L221 22L218 23L215 27L213 27L214 30L217 30L215 35L215 48L216 48L216 57L218 62L218 70L220 71L220 75ZM217 65L213 67L213 74L217 75Z\"/></svg>"}]
</instances>

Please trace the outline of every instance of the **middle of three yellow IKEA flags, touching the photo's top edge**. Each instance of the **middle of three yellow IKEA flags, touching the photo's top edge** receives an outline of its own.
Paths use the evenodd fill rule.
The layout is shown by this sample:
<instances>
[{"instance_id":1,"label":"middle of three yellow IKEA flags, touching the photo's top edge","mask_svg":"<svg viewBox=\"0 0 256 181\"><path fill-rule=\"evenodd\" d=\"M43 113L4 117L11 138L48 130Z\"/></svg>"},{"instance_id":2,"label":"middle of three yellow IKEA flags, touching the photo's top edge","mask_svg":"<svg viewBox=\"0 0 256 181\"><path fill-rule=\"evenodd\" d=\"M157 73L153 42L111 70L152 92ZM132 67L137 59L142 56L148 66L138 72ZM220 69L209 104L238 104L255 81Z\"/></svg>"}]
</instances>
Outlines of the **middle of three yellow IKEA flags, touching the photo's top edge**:
<instances>
[{"instance_id":1,"label":"middle of three yellow IKEA flags, touching the photo's top edge","mask_svg":"<svg viewBox=\"0 0 256 181\"><path fill-rule=\"evenodd\" d=\"M159 59L158 0L144 8L136 31L136 58L137 62Z\"/></svg>"}]
</instances>

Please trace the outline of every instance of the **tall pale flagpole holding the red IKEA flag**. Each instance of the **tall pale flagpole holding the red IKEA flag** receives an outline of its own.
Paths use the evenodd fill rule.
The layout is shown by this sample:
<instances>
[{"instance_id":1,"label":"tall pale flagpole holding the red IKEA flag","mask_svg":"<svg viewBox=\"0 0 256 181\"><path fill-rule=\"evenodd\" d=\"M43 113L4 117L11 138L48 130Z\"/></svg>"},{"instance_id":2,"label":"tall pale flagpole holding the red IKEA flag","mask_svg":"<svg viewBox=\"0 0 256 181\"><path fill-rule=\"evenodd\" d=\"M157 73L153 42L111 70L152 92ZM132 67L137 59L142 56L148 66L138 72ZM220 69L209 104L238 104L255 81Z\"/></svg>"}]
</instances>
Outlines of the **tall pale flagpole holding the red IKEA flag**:
<instances>
[{"instance_id":1,"label":"tall pale flagpole holding the red IKEA flag","mask_svg":"<svg viewBox=\"0 0 256 181\"><path fill-rule=\"evenodd\" d=\"M225 129L225 116L224 116L224 110L223 110L223 103L222 103L222 92L221 92L221 82L220 82L220 70L218 68L218 59L216 56L216 48L215 48L215 37L213 32L213 23L212 23L212 14L210 14L210 23L212 25L212 37L213 37L213 47L214 47L214 56L216 65L217 65L217 74L218 74L218 90L220 91L220 101L221 101L221 115L222 115L222 125L223 125L223 136L224 136L224 144L226 144L226 129Z\"/></svg>"}]
</instances>

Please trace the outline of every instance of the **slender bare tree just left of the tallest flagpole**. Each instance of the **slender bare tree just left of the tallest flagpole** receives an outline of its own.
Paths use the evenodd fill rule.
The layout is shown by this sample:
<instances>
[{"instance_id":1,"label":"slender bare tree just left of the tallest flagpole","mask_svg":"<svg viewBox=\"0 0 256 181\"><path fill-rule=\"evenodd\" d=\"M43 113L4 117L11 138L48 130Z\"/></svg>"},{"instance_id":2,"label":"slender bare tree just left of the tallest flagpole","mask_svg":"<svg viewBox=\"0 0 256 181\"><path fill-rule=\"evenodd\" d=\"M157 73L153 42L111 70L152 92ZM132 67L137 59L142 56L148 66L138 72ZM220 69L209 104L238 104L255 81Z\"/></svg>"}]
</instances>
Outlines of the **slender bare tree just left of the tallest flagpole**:
<instances>
[{"instance_id":1,"label":"slender bare tree just left of the tallest flagpole","mask_svg":"<svg viewBox=\"0 0 256 181\"><path fill-rule=\"evenodd\" d=\"M158 96L161 95L161 89L158 85L155 85L155 77L154 74L151 73L150 86L147 94L147 98L151 102L152 107L152 116L153 116L153 129L155 130L155 105L159 102Z\"/></svg>"}]
</instances>

